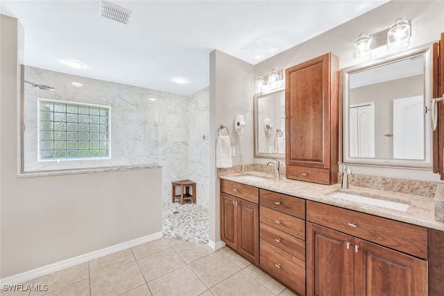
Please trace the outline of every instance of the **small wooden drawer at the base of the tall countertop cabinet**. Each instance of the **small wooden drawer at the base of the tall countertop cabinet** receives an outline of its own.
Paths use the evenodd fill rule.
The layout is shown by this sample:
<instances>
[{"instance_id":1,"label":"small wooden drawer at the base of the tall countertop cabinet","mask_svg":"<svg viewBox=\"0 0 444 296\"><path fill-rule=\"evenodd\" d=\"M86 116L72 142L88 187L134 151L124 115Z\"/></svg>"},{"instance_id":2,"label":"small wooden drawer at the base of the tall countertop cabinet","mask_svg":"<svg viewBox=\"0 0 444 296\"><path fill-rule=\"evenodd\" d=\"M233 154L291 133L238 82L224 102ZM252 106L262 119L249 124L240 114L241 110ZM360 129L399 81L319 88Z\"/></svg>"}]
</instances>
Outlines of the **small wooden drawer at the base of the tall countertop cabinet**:
<instances>
[{"instance_id":1,"label":"small wooden drawer at the base of the tall countertop cabinet","mask_svg":"<svg viewBox=\"0 0 444 296\"><path fill-rule=\"evenodd\" d=\"M319 184L335 184L337 183L338 179L338 174L331 173L328 168L308 168L306 166L287 165L285 172L288 179L314 182ZM335 177L336 180L334 179Z\"/></svg>"}]
</instances>

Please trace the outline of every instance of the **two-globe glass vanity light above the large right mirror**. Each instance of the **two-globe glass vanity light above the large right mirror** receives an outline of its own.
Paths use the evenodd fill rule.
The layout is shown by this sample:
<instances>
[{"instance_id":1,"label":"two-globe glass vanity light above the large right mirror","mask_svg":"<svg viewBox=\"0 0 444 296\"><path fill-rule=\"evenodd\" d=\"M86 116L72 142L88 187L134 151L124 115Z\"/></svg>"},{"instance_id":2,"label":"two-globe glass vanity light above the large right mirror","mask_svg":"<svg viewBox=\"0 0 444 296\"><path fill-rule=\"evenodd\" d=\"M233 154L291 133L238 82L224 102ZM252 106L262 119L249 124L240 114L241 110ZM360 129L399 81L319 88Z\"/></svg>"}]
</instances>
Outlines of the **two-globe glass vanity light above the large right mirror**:
<instances>
[{"instance_id":1,"label":"two-globe glass vanity light above the large right mirror","mask_svg":"<svg viewBox=\"0 0 444 296\"><path fill-rule=\"evenodd\" d=\"M361 62L371 58L371 51L386 45L387 51L401 51L410 45L411 21L398 18L395 23L372 35L359 34L355 40L353 58Z\"/></svg>"}]
</instances>

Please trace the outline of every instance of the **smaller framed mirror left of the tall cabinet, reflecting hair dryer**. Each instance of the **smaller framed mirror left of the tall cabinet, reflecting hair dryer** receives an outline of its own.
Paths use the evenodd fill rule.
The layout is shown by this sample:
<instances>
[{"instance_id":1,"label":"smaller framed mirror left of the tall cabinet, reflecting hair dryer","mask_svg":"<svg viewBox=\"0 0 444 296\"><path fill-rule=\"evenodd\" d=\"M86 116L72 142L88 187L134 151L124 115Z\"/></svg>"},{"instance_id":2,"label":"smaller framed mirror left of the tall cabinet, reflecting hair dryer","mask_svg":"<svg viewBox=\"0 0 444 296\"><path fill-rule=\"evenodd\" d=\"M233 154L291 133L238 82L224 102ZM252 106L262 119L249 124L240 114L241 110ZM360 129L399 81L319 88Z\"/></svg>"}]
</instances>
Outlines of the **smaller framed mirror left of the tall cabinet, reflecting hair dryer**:
<instances>
[{"instance_id":1,"label":"smaller framed mirror left of the tall cabinet, reflecting hair dryer","mask_svg":"<svg viewBox=\"0 0 444 296\"><path fill-rule=\"evenodd\" d=\"M254 98L255 157L285 158L285 90Z\"/></svg>"}]
</instances>

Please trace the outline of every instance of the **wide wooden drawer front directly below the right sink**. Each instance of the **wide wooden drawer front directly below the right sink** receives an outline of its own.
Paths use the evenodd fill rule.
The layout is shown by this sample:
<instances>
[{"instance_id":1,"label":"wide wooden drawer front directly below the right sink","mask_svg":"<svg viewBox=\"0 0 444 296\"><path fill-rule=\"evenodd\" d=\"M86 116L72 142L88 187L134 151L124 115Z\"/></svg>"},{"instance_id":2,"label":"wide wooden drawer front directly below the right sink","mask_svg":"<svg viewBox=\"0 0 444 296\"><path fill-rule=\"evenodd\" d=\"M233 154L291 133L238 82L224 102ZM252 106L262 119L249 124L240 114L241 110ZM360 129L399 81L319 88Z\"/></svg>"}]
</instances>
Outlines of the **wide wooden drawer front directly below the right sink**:
<instances>
[{"instance_id":1,"label":"wide wooden drawer front directly below the right sink","mask_svg":"<svg viewBox=\"0 0 444 296\"><path fill-rule=\"evenodd\" d=\"M427 229L307 200L307 220L427 259Z\"/></svg>"}]
</instances>

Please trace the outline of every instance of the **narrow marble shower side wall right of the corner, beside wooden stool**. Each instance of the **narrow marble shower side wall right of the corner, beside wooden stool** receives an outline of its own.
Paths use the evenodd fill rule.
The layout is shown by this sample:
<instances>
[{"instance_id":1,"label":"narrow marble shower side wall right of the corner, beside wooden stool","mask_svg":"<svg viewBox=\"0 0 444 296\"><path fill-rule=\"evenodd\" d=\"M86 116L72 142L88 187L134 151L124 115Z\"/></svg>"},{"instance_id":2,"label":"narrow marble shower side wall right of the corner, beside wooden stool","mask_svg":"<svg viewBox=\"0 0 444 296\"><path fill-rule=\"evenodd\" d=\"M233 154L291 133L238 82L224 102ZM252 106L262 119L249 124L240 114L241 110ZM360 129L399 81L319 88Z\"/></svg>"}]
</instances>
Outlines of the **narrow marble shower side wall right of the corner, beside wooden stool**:
<instances>
[{"instance_id":1,"label":"narrow marble shower side wall right of the corner, beside wooden stool","mask_svg":"<svg viewBox=\"0 0 444 296\"><path fill-rule=\"evenodd\" d=\"M197 203L208 209L210 196L210 89L189 97L188 179L196 182Z\"/></svg>"}]
</instances>

